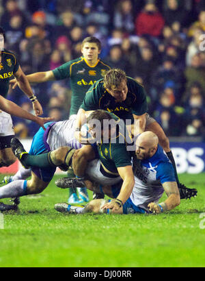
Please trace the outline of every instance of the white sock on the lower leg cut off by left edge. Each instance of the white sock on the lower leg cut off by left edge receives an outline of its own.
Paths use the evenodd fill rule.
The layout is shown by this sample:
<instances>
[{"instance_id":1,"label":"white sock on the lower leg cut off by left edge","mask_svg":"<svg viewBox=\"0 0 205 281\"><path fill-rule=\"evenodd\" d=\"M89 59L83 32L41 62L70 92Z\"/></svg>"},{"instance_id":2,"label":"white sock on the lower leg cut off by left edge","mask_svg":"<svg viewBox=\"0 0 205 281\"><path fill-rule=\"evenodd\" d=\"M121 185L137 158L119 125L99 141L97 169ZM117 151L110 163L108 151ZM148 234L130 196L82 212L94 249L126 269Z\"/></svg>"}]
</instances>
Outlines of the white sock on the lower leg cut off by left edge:
<instances>
[{"instance_id":1,"label":"white sock on the lower leg cut off by left edge","mask_svg":"<svg viewBox=\"0 0 205 281\"><path fill-rule=\"evenodd\" d=\"M0 188L0 198L20 197L27 195L27 180L15 180Z\"/></svg>"}]
</instances>

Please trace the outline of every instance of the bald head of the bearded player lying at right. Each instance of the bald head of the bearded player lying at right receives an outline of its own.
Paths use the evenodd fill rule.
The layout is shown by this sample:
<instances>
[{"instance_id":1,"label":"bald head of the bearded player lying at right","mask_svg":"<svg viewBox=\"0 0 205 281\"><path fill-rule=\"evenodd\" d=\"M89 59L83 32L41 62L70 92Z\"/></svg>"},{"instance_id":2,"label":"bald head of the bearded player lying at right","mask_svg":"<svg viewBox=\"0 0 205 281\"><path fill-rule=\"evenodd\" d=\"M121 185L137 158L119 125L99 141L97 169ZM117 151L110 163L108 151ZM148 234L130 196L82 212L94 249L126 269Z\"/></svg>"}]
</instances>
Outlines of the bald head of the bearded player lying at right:
<instances>
[{"instance_id":1,"label":"bald head of the bearded player lying at right","mask_svg":"<svg viewBox=\"0 0 205 281\"><path fill-rule=\"evenodd\" d=\"M152 157L159 144L159 138L153 132L147 131L140 134L136 140L136 155L140 160Z\"/></svg>"}]
</instances>

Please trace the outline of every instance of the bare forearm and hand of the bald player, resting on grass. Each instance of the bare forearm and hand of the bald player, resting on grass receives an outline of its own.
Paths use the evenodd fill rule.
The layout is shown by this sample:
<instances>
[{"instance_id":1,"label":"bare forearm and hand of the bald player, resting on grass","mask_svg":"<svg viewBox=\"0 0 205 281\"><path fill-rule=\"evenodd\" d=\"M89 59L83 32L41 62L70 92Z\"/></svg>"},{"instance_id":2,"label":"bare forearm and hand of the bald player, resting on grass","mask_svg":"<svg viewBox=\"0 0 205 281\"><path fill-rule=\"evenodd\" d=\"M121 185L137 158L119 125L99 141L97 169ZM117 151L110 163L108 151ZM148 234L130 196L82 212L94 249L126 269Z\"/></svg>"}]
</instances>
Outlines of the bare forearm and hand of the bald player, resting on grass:
<instances>
[{"instance_id":1,"label":"bare forearm and hand of the bald player, resting on grass","mask_svg":"<svg viewBox=\"0 0 205 281\"><path fill-rule=\"evenodd\" d=\"M168 198L160 204L155 204L154 202L148 204L150 211L156 214L172 210L180 204L180 193L176 182L164 182L163 188Z\"/></svg>"}]
</instances>

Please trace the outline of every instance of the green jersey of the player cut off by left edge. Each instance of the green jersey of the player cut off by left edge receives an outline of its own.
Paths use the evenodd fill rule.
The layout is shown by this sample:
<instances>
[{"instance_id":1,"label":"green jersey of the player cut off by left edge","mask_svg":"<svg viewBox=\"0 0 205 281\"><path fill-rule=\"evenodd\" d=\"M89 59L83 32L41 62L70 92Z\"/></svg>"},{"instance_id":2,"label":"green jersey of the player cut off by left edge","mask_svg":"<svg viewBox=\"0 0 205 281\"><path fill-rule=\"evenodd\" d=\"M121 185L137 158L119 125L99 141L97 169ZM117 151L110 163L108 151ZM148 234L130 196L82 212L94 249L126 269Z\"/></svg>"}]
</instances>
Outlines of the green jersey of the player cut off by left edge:
<instances>
[{"instance_id":1,"label":"green jersey of the player cut off by left edge","mask_svg":"<svg viewBox=\"0 0 205 281\"><path fill-rule=\"evenodd\" d=\"M1 51L0 63L0 95L6 97L9 90L10 80L12 75L18 71L18 61L14 53L3 50Z\"/></svg>"}]
</instances>

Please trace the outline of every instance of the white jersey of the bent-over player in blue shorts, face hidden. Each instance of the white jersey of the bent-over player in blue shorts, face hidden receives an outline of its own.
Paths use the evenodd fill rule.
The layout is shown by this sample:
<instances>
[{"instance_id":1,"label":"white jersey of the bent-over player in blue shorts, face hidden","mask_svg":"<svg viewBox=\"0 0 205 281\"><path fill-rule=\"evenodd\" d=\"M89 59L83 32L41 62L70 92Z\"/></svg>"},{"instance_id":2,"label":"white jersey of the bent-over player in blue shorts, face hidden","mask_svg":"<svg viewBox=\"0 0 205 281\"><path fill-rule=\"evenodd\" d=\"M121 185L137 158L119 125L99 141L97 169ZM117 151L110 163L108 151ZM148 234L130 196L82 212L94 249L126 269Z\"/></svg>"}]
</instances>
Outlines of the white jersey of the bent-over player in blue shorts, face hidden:
<instances>
[{"instance_id":1,"label":"white jersey of the bent-over player in blue shorts, face hidden","mask_svg":"<svg viewBox=\"0 0 205 281\"><path fill-rule=\"evenodd\" d=\"M52 150L59 147L69 146L74 149L82 147L76 138L74 138L76 116L72 116L69 120L59 121L51 127L46 142Z\"/></svg>"}]
</instances>

